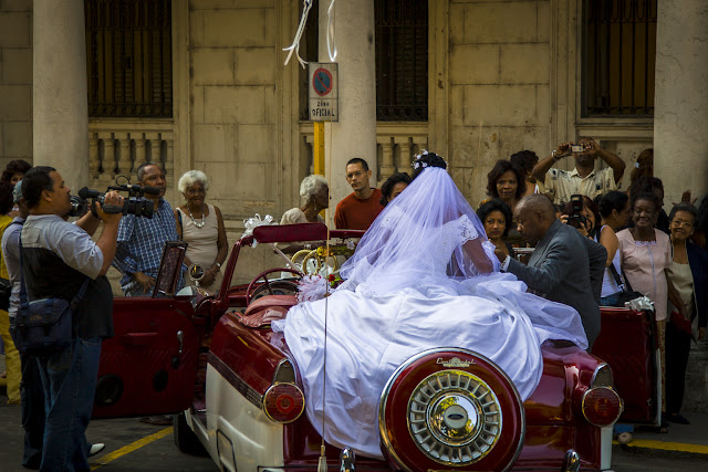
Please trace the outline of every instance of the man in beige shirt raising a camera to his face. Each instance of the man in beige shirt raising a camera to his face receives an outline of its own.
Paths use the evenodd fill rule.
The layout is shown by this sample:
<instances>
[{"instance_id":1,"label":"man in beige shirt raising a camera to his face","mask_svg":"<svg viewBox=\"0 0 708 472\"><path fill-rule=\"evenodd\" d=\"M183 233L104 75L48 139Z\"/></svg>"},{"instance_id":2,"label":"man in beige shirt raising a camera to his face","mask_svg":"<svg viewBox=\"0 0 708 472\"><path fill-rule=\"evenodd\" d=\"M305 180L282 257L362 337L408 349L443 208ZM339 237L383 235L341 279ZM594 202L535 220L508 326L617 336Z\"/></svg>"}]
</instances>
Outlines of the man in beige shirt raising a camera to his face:
<instances>
[{"instance_id":1,"label":"man in beige shirt raising a camera to his face","mask_svg":"<svg viewBox=\"0 0 708 472\"><path fill-rule=\"evenodd\" d=\"M575 159L571 171L553 168L553 165L568 156ZM601 158L606 169L595 170L595 160ZM580 138L577 143L562 143L545 159L533 167L531 175L537 179L539 193L548 195L553 203L565 204L571 195L580 193L594 199L610 190L617 189L622 180L624 160L600 147L593 138Z\"/></svg>"}]
</instances>

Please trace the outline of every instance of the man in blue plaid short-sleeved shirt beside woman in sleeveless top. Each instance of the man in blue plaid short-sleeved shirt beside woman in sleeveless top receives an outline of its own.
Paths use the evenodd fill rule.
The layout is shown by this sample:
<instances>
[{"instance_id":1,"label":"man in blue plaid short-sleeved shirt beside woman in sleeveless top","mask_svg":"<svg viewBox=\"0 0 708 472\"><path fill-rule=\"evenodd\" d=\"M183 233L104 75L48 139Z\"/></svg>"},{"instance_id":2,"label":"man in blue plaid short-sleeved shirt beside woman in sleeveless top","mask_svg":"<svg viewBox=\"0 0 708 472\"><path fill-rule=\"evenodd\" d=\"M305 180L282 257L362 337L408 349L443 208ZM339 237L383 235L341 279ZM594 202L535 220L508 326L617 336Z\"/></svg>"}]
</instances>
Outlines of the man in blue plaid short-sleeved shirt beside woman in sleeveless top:
<instances>
[{"instance_id":1,"label":"man in blue plaid short-sleeved shirt beside woman in sleeveless top","mask_svg":"<svg viewBox=\"0 0 708 472\"><path fill-rule=\"evenodd\" d=\"M125 296L153 294L165 242L179 240L175 213L164 198L165 171L155 162L144 162L137 168L137 180L139 186L158 188L159 193L146 192L143 197L154 202L153 218L128 213L121 220L113 264L123 273L121 289Z\"/></svg>"}]
</instances>

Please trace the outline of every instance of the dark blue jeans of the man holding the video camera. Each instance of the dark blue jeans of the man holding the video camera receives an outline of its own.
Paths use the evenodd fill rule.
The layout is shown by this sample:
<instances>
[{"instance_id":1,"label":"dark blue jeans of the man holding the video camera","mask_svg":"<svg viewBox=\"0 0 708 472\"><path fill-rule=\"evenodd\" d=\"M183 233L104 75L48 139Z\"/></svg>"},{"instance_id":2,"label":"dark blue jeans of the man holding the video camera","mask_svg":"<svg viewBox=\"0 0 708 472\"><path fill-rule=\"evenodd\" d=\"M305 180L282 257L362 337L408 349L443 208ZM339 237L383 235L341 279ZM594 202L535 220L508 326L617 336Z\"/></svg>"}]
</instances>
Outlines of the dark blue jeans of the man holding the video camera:
<instances>
[{"instance_id":1,"label":"dark blue jeans of the man holding the video camera","mask_svg":"<svg viewBox=\"0 0 708 472\"><path fill-rule=\"evenodd\" d=\"M90 470L86 427L96 392L101 338L76 338L72 346L38 358L45 413L42 471Z\"/></svg>"}]
</instances>

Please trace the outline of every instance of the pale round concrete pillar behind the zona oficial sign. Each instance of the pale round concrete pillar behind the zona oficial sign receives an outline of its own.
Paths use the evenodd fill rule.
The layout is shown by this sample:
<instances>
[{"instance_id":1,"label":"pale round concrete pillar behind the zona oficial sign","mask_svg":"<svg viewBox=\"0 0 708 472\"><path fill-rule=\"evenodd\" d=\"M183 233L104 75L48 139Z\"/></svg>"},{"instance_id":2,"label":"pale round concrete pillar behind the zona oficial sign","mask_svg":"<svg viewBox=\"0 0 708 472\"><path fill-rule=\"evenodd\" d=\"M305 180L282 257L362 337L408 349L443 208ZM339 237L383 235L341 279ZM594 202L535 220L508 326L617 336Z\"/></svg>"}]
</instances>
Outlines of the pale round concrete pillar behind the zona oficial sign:
<instances>
[{"instance_id":1,"label":"pale round concrete pillar behind the zona oficial sign","mask_svg":"<svg viewBox=\"0 0 708 472\"><path fill-rule=\"evenodd\" d=\"M320 2L320 62L327 55L329 1ZM374 1L347 0L334 4L334 39L339 63L340 120L324 128L325 174L334 208L352 192L346 183L346 161L361 157L373 171L376 187L376 75L374 52Z\"/></svg>"}]
</instances>

